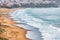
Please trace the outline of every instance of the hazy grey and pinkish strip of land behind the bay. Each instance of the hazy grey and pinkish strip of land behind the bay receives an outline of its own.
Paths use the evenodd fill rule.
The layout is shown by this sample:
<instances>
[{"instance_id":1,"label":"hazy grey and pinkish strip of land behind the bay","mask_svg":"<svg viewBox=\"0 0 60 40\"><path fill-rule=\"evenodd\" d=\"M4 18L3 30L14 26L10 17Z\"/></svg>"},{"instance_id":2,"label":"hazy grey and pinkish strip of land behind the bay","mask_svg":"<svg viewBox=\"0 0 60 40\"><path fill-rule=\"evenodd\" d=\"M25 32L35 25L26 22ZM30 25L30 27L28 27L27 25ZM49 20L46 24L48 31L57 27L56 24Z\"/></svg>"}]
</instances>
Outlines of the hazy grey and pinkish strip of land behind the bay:
<instances>
[{"instance_id":1,"label":"hazy grey and pinkish strip of land behind the bay","mask_svg":"<svg viewBox=\"0 0 60 40\"><path fill-rule=\"evenodd\" d=\"M36 0L35 0L36 1ZM55 1L49 2L49 1L43 1L43 2L21 2L20 0L10 0L10 1L0 1L0 7L5 8L18 8L18 7L58 7L58 3Z\"/></svg>"}]
</instances>

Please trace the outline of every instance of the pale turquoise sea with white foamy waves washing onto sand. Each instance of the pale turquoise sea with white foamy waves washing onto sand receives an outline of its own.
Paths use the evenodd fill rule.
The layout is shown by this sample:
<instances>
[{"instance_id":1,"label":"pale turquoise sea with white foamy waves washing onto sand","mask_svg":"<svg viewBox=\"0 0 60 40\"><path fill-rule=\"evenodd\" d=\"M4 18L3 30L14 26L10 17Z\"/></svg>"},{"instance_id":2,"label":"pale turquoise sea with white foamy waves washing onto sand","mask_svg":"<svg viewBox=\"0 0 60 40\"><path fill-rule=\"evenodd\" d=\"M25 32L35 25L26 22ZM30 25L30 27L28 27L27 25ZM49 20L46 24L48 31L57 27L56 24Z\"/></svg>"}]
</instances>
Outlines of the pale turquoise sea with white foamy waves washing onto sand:
<instances>
[{"instance_id":1,"label":"pale turquoise sea with white foamy waves washing onto sand","mask_svg":"<svg viewBox=\"0 0 60 40\"><path fill-rule=\"evenodd\" d=\"M11 18L31 40L60 40L60 8L26 8L15 10Z\"/></svg>"}]
</instances>

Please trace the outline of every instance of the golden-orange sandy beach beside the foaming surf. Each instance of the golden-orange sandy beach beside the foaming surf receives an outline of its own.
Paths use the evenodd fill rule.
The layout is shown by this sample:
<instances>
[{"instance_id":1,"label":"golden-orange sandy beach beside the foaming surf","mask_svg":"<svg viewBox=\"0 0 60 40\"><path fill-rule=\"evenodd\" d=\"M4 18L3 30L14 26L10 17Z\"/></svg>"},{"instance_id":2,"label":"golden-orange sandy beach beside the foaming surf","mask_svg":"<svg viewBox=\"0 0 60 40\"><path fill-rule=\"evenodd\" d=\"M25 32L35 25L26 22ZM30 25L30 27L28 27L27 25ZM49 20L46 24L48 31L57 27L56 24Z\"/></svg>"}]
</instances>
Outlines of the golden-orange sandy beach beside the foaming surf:
<instances>
[{"instance_id":1,"label":"golden-orange sandy beach beside the foaming surf","mask_svg":"<svg viewBox=\"0 0 60 40\"><path fill-rule=\"evenodd\" d=\"M0 14L7 15L14 10L16 9L0 8ZM0 34L0 36L5 37L8 40L29 40L26 37L26 33L28 30L14 25L16 24L16 22L14 22L13 19L4 15L0 15L0 28L3 28L5 32Z\"/></svg>"}]
</instances>

